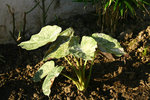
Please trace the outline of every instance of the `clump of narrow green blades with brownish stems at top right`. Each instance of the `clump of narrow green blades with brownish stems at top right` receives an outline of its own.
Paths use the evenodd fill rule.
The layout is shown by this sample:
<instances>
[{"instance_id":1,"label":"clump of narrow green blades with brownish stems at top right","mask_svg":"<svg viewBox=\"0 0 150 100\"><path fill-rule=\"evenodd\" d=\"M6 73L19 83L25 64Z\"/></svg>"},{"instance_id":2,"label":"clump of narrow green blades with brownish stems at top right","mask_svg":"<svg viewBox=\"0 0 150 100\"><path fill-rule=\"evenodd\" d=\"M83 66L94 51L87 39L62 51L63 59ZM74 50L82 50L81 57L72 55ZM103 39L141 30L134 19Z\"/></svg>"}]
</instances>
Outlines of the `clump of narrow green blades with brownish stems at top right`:
<instances>
[{"instance_id":1,"label":"clump of narrow green blades with brownish stems at top right","mask_svg":"<svg viewBox=\"0 0 150 100\"><path fill-rule=\"evenodd\" d=\"M96 5L98 14L98 25L101 32L108 32L111 35L117 30L119 19L126 18L127 14L136 16L136 9L144 12L147 10L145 5L150 6L150 0L74 0L76 2L91 2Z\"/></svg>"}]
</instances>

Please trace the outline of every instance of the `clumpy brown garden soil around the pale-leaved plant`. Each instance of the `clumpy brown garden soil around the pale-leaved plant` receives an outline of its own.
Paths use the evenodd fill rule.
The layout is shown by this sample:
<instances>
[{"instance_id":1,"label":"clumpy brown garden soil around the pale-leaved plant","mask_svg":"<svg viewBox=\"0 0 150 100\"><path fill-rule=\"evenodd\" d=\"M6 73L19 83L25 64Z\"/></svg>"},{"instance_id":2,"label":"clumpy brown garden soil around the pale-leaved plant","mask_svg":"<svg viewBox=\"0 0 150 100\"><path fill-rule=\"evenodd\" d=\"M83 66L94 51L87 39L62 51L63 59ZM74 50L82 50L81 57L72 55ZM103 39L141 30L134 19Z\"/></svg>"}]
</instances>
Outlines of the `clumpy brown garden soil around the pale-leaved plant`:
<instances>
[{"instance_id":1,"label":"clumpy brown garden soil around the pale-leaved plant","mask_svg":"<svg viewBox=\"0 0 150 100\"><path fill-rule=\"evenodd\" d=\"M93 14L57 19L63 29L73 27L79 36L100 32ZM42 65L47 46L34 51L22 50L15 44L0 45L3 62L0 62L1 100L148 100L150 99L150 17L128 19L118 28L115 38L127 55L99 52L95 59L92 77L85 92L63 76L55 79L50 97L42 93L43 80L37 83L32 77ZM66 65L64 59L57 63Z\"/></svg>"}]
</instances>

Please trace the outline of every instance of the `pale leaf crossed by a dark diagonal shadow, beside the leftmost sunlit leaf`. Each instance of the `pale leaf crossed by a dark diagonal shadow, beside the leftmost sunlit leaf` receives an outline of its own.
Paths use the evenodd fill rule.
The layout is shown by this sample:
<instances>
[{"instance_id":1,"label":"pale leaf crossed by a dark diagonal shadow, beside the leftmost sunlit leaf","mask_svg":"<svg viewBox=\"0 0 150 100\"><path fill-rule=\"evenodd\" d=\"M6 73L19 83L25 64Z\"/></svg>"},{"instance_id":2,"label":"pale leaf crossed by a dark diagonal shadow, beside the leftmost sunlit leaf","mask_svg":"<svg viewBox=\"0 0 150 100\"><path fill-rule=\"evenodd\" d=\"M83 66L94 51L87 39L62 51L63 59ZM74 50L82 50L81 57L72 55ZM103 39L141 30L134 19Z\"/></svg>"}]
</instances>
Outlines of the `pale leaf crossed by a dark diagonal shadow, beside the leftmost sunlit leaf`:
<instances>
[{"instance_id":1,"label":"pale leaf crossed by a dark diagonal shadow, beside the leftmost sunlit leaf","mask_svg":"<svg viewBox=\"0 0 150 100\"><path fill-rule=\"evenodd\" d=\"M70 40L74 34L74 30L72 28L68 28L62 33L60 33L60 36L58 39L51 44L48 51L45 54L44 60L47 60L48 58L61 58L65 57L69 54L69 46L70 46Z\"/></svg>"}]
</instances>

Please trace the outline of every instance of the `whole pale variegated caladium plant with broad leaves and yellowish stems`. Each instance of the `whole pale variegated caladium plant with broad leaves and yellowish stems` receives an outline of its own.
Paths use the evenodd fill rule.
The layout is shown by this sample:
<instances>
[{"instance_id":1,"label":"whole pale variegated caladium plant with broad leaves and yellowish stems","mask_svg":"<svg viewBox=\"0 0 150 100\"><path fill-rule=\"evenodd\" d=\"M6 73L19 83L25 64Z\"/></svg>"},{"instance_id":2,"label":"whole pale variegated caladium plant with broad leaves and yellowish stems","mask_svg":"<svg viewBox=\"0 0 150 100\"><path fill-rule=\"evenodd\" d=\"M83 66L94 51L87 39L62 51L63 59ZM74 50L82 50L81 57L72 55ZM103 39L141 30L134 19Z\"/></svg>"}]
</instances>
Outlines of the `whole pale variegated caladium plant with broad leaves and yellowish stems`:
<instances>
[{"instance_id":1,"label":"whole pale variegated caladium plant with broad leaves and yellowish stems","mask_svg":"<svg viewBox=\"0 0 150 100\"><path fill-rule=\"evenodd\" d=\"M74 36L74 30L68 28L61 32L61 27L45 26L38 34L32 35L31 39L19 44L20 47L26 50L34 50L41 46L50 43L49 49L46 51L43 61L45 62L40 69L35 73L33 81L38 82L46 77L42 90L47 96L50 95L51 86L56 77L60 75L65 66L55 66L51 59L65 58L70 67L76 74L76 77L71 77L61 73L63 76L72 80L80 91L86 90L94 64L96 49L103 52L115 54L116 56L124 55L124 49L119 42L104 33L94 33L92 36L83 36L81 39ZM68 55L72 56L75 63L68 59ZM90 71L86 72L87 62L90 61ZM87 77L86 77L87 76Z\"/></svg>"}]
</instances>

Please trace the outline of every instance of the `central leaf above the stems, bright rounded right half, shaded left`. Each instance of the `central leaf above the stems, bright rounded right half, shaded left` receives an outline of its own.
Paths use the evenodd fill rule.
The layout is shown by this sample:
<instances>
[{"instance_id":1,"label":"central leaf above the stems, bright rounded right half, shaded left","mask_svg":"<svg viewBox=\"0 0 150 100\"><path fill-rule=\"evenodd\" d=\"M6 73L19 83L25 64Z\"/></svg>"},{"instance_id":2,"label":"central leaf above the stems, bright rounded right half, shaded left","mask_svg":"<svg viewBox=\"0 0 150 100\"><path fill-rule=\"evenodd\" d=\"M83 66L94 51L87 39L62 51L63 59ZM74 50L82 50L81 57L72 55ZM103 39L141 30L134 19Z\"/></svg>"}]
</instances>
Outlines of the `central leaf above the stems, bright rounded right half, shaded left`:
<instances>
[{"instance_id":1,"label":"central leaf above the stems, bright rounded right half, shaded left","mask_svg":"<svg viewBox=\"0 0 150 100\"><path fill-rule=\"evenodd\" d=\"M97 42L89 36L83 36L81 44L77 44L70 49L70 53L84 60L93 60Z\"/></svg>"}]
</instances>

